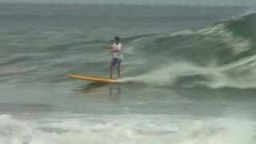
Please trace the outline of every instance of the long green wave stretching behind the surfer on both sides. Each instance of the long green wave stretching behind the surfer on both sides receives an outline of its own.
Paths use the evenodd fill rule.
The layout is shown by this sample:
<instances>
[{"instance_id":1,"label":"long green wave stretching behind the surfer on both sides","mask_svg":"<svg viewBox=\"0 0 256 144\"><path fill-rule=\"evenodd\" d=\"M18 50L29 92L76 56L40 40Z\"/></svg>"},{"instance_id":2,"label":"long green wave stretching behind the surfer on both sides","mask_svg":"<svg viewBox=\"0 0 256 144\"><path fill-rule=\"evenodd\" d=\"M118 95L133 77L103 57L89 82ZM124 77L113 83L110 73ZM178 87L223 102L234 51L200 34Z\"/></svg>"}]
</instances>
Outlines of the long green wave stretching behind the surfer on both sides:
<instances>
[{"instance_id":1,"label":"long green wave stretching behind the surfer on both sides","mask_svg":"<svg viewBox=\"0 0 256 144\"><path fill-rule=\"evenodd\" d=\"M256 14L250 13L199 30L122 38L124 78L119 82L256 88L255 22ZM19 74L17 69L32 67L36 70L29 71L30 76L21 82L63 82L69 80L65 75L71 72L108 77L110 44L108 39L92 38L57 42L45 50L25 50L24 54L19 50L12 57L1 58L0 65L8 68L2 76L13 79L13 74Z\"/></svg>"}]
</instances>

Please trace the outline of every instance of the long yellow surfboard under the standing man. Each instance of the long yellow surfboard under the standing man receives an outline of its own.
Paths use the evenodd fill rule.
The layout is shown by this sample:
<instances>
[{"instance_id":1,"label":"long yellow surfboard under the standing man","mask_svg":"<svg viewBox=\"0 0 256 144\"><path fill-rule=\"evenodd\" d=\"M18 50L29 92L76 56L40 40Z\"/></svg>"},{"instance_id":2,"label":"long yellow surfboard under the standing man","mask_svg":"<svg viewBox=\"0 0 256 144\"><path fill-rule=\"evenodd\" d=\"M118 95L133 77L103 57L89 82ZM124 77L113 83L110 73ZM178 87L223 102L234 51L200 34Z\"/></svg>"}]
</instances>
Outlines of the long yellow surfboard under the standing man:
<instances>
[{"instance_id":1,"label":"long yellow surfboard under the standing man","mask_svg":"<svg viewBox=\"0 0 256 144\"><path fill-rule=\"evenodd\" d=\"M90 81L90 82L102 82L102 83L116 82L116 80L112 79L112 78L95 78L95 77L89 77L86 75L77 75L77 74L67 74L67 76L70 78L76 78L76 79L86 80L86 81Z\"/></svg>"}]
</instances>

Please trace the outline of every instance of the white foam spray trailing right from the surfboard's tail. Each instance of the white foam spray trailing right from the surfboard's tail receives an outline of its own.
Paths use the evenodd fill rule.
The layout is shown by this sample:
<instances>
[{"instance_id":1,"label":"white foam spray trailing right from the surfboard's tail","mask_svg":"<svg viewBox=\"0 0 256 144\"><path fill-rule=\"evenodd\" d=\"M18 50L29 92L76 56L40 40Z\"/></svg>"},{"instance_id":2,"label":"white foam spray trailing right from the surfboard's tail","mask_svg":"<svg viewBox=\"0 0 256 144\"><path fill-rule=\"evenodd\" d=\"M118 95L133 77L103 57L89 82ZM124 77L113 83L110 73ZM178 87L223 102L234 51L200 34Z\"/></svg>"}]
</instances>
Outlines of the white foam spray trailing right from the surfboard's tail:
<instances>
[{"instance_id":1,"label":"white foam spray trailing right from the surfboard's tail","mask_svg":"<svg viewBox=\"0 0 256 144\"><path fill-rule=\"evenodd\" d=\"M254 66L256 58L254 56L240 59L237 62L224 66L218 66L216 62L211 62L207 66L198 66L190 62L171 62L168 65L159 67L146 74L135 77L127 77L118 82L145 83L151 86L171 86L177 82L178 78L187 76L201 76L205 80L192 82L190 86L209 86L211 88L235 87L235 88L255 88L256 70ZM247 71L244 74L244 70ZM237 74L232 76L230 73ZM244 74L244 75L242 75Z\"/></svg>"}]
</instances>

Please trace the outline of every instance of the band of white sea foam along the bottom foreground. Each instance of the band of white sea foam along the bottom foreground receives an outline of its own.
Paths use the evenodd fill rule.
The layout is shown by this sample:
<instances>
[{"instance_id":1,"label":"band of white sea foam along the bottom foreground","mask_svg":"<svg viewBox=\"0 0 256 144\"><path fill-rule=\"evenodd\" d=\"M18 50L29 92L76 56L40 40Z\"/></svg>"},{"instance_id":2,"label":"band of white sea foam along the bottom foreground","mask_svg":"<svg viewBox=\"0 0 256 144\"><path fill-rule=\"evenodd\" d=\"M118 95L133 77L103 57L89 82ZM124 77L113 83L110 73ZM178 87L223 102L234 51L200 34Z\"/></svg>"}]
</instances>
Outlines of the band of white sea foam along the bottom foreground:
<instances>
[{"instance_id":1,"label":"band of white sea foam along the bottom foreground","mask_svg":"<svg viewBox=\"0 0 256 144\"><path fill-rule=\"evenodd\" d=\"M5 144L250 144L254 122L225 118L193 120L168 115L85 115L41 120L0 116Z\"/></svg>"}]
</instances>

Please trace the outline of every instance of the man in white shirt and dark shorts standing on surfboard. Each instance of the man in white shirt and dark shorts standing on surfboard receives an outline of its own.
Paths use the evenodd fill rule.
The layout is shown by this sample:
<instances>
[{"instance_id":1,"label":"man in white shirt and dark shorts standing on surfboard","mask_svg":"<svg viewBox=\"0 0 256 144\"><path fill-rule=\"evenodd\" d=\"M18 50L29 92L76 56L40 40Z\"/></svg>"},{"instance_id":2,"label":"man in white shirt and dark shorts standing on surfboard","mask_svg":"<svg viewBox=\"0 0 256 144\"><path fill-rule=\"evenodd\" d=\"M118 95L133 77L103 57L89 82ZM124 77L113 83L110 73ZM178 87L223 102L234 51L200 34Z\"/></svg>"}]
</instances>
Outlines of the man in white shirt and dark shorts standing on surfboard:
<instances>
[{"instance_id":1,"label":"man in white shirt and dark shorts standing on surfboard","mask_svg":"<svg viewBox=\"0 0 256 144\"><path fill-rule=\"evenodd\" d=\"M113 58L110 62L110 78L112 78L112 69L115 65L118 66L118 78L120 78L120 66L122 62L122 44L120 38L115 37L114 43L110 46L110 53L112 54Z\"/></svg>"}]
</instances>

